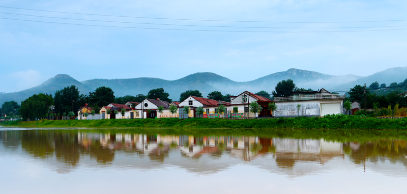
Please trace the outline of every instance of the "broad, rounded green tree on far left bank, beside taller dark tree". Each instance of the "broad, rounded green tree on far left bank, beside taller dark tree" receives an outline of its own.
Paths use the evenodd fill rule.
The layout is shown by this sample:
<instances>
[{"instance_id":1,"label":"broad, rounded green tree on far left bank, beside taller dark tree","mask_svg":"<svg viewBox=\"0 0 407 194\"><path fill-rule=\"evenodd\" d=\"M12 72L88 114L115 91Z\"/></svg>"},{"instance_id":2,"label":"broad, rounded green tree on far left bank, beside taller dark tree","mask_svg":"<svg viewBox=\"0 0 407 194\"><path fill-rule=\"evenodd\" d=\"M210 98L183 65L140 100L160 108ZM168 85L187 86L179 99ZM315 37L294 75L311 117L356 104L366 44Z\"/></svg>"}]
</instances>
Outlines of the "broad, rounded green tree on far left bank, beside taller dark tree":
<instances>
[{"instance_id":1,"label":"broad, rounded green tree on far left bank, beside taller dark tree","mask_svg":"<svg viewBox=\"0 0 407 194\"><path fill-rule=\"evenodd\" d=\"M34 94L21 102L20 114L23 120L47 118L52 105L54 105L52 95Z\"/></svg>"}]
</instances>

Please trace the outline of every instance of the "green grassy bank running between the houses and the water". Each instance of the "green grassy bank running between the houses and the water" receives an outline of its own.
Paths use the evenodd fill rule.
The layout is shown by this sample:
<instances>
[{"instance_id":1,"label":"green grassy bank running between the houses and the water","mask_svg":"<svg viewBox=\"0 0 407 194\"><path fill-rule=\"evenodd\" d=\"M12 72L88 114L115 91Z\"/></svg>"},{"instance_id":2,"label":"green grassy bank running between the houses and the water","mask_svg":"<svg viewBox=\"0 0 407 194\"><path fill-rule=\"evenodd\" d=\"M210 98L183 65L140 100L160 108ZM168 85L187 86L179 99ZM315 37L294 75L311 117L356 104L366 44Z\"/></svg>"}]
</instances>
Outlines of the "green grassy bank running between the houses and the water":
<instances>
[{"instance_id":1,"label":"green grassy bank running between the houses and the water","mask_svg":"<svg viewBox=\"0 0 407 194\"><path fill-rule=\"evenodd\" d=\"M376 119L354 115L326 115L324 118L278 119L117 119L117 120L40 120L7 121L2 126L15 127L85 127L85 128L238 128L238 129L407 129L407 119Z\"/></svg>"}]
</instances>

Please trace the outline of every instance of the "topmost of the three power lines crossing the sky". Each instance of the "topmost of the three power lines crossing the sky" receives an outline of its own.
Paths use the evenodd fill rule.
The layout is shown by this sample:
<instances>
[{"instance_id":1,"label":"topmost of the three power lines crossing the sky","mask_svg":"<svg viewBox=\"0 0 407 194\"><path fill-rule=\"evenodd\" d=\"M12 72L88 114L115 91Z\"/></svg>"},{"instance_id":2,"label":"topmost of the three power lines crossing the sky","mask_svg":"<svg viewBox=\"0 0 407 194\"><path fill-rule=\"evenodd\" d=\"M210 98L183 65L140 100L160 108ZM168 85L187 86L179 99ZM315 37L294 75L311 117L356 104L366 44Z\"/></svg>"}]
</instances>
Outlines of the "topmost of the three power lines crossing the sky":
<instances>
[{"instance_id":1,"label":"topmost of the three power lines crossing the sky","mask_svg":"<svg viewBox=\"0 0 407 194\"><path fill-rule=\"evenodd\" d=\"M247 22L247 23L367 23L367 22L394 22L394 21L407 21L402 20L370 20L370 21L328 21L328 22L299 22L299 21L242 21L242 20L207 20L207 19L185 19L185 18L159 18L159 17L139 17L139 16L119 16L119 15L105 15L105 14L89 14L89 13L75 13L75 12L59 12L26 8L15 8L0 6L0 8L18 9L18 10L30 10L40 12L52 12L52 13L64 13L64 14L79 14L79 15L92 15L92 16L107 16L107 17L124 17L124 18L144 18L144 19L162 19L162 20L187 20L187 21L211 21L211 22Z\"/></svg>"}]
</instances>

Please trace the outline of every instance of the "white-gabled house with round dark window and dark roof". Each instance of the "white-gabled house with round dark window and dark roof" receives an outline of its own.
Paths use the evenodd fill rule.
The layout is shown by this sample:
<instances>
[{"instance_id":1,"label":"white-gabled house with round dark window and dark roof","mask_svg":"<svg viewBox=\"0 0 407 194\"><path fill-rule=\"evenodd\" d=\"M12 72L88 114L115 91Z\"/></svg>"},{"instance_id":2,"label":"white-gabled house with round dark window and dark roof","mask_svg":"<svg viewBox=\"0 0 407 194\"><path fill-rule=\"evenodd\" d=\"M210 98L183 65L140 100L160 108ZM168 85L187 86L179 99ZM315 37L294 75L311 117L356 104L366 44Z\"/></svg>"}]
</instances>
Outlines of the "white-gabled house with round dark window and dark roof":
<instances>
[{"instance_id":1,"label":"white-gabled house with round dark window and dark roof","mask_svg":"<svg viewBox=\"0 0 407 194\"><path fill-rule=\"evenodd\" d=\"M158 107L162 106L164 108L163 113L160 113L158 111ZM167 101L163 101L160 99L144 99L142 102L137 104L135 107L134 113L134 118L141 118L141 119L147 119L147 118L170 118L170 117L178 117L178 113L176 114L171 114L169 111L169 106L170 104Z\"/></svg>"}]
</instances>

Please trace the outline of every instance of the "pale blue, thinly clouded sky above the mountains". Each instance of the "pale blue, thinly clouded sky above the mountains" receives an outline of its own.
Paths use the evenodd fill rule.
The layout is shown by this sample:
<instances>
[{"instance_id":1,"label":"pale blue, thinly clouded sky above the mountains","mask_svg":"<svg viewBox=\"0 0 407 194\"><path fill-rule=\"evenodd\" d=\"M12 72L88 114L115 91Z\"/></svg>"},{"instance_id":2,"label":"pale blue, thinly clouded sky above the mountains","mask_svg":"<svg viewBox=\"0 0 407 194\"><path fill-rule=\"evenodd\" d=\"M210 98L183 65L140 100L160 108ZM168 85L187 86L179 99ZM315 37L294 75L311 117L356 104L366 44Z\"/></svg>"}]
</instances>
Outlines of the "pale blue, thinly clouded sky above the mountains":
<instances>
[{"instance_id":1,"label":"pale blue, thinly clouded sky above the mountains","mask_svg":"<svg viewBox=\"0 0 407 194\"><path fill-rule=\"evenodd\" d=\"M407 66L405 10L404 0L3 0L0 92L56 74L177 80L213 72L243 82L297 68L367 76Z\"/></svg>"}]
</instances>

